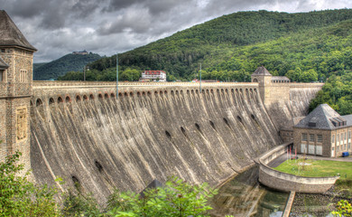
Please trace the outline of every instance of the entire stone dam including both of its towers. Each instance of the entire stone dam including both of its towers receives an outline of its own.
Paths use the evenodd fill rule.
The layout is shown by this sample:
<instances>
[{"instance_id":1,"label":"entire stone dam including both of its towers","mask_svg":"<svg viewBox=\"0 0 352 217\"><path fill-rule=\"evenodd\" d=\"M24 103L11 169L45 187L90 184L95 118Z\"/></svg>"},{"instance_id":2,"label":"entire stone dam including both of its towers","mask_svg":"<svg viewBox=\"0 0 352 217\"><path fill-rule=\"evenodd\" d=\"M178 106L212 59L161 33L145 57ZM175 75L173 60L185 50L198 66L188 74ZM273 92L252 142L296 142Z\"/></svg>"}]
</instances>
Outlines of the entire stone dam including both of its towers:
<instances>
[{"instance_id":1,"label":"entire stone dam including both of its towers","mask_svg":"<svg viewBox=\"0 0 352 217\"><path fill-rule=\"evenodd\" d=\"M0 161L16 150L32 181L79 183L106 203L177 175L215 186L283 142L320 83L291 83L264 67L252 82L33 81L36 51L0 11ZM64 184L55 182L61 177Z\"/></svg>"}]
</instances>

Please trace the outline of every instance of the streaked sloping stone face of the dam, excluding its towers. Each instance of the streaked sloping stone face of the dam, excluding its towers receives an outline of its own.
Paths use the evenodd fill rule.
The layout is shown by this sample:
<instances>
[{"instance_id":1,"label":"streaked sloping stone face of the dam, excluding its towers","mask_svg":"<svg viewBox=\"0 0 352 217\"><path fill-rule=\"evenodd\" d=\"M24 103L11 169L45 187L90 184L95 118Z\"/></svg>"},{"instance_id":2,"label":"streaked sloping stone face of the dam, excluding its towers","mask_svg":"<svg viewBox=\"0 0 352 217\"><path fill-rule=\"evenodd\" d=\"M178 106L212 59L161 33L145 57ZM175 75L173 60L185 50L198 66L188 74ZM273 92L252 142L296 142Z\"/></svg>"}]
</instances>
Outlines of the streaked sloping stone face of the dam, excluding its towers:
<instances>
[{"instance_id":1,"label":"streaked sloping stone face of the dam, excluding its towers","mask_svg":"<svg viewBox=\"0 0 352 217\"><path fill-rule=\"evenodd\" d=\"M139 192L169 175L216 185L280 144L271 112L289 112L283 120L302 111L294 100L267 111L255 83L208 84L201 92L189 84L119 90L116 99L116 86L34 85L31 165L38 183L56 184L57 176L66 181L61 188L79 182L100 203L114 187Z\"/></svg>"}]
</instances>

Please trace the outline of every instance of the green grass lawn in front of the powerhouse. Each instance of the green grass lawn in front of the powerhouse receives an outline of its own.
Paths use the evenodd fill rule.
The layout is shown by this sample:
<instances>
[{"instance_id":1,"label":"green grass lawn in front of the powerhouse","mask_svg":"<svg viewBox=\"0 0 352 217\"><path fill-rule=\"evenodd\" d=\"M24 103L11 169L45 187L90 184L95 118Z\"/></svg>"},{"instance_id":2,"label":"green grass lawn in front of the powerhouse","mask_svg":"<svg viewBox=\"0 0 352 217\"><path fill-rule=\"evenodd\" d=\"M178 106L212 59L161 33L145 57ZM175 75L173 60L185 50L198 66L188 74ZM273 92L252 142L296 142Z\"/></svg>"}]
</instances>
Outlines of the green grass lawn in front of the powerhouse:
<instances>
[{"instance_id":1,"label":"green grass lawn in front of the powerhouse","mask_svg":"<svg viewBox=\"0 0 352 217\"><path fill-rule=\"evenodd\" d=\"M303 165L304 164L304 165ZM287 160L273 169L286 174L307 177L334 176L340 179L352 179L352 162L324 161L324 160Z\"/></svg>"}]
</instances>

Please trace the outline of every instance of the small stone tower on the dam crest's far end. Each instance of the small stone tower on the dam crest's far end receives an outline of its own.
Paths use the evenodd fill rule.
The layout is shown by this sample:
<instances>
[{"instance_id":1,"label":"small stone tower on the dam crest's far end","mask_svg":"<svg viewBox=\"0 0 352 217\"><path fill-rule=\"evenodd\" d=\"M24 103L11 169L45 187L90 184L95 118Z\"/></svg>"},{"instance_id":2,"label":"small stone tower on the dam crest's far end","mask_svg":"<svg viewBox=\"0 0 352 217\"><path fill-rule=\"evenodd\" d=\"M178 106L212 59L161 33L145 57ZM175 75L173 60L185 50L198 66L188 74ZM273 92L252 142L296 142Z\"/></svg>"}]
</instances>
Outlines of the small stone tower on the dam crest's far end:
<instances>
[{"instance_id":1,"label":"small stone tower on the dam crest's far end","mask_svg":"<svg viewBox=\"0 0 352 217\"><path fill-rule=\"evenodd\" d=\"M269 87L272 84L273 75L265 69L264 66L258 67L255 72L251 75L252 82L259 83L259 92L261 99L266 104L265 99L270 97Z\"/></svg>"}]
</instances>

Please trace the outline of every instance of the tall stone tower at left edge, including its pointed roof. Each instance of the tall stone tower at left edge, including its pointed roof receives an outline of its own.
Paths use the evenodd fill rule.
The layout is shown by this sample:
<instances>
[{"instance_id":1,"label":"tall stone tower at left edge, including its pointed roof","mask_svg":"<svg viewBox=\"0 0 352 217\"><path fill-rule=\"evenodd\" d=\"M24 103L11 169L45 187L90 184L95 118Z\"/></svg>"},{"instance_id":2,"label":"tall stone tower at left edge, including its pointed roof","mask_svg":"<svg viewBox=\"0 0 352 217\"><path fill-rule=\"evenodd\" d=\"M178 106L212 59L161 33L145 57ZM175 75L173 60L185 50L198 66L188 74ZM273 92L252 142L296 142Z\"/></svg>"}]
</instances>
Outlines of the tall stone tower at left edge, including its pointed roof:
<instances>
[{"instance_id":1,"label":"tall stone tower at left edge, including its pointed roof","mask_svg":"<svg viewBox=\"0 0 352 217\"><path fill-rule=\"evenodd\" d=\"M36 49L0 10L0 160L19 150L26 169L30 168L33 52Z\"/></svg>"}]
</instances>

